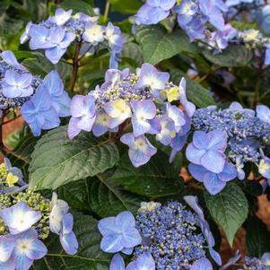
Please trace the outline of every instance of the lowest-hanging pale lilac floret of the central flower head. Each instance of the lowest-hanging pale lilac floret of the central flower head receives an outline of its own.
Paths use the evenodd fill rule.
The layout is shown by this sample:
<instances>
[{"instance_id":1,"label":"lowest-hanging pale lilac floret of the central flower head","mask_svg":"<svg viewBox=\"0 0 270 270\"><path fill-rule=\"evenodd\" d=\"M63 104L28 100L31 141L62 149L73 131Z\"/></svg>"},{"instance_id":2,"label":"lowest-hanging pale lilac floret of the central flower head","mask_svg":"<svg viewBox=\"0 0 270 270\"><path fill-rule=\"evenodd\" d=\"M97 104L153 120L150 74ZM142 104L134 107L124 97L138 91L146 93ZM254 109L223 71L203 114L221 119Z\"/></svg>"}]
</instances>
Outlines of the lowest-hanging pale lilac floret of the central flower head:
<instances>
[{"instance_id":1,"label":"lowest-hanging pale lilac floret of the central flower head","mask_svg":"<svg viewBox=\"0 0 270 270\"><path fill-rule=\"evenodd\" d=\"M128 145L130 161L136 168L150 161L157 152L157 149L152 146L144 135L135 137L132 133L127 133L122 135L120 140L123 144Z\"/></svg>"}]
</instances>

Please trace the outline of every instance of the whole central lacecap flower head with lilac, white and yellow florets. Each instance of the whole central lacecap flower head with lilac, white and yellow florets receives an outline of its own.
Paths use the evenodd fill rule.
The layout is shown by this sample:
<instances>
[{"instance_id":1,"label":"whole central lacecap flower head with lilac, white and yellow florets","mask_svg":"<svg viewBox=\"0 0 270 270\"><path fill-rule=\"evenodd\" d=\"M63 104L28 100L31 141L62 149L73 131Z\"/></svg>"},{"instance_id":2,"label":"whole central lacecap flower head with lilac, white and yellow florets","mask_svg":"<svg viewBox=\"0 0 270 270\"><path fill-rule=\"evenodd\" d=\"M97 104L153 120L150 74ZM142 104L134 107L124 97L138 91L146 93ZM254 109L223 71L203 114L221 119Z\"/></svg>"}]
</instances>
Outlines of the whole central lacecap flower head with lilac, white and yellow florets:
<instances>
[{"instance_id":1,"label":"whole central lacecap flower head with lilac, white and yellow florets","mask_svg":"<svg viewBox=\"0 0 270 270\"><path fill-rule=\"evenodd\" d=\"M171 147L172 160L187 141L196 107L187 100L185 79L179 86L169 79L170 74L150 64L142 65L135 74L128 69L109 69L105 83L95 91L74 96L69 138L83 130L95 136L115 133L114 138L119 137L129 147L129 158L138 167L157 152L147 138L154 135L158 142Z\"/></svg>"}]
</instances>

